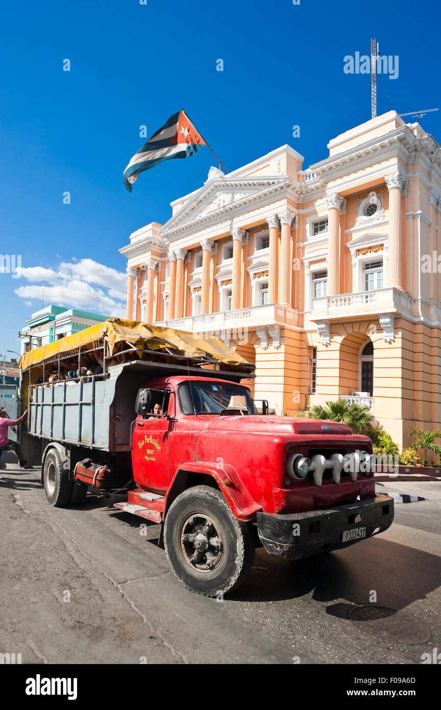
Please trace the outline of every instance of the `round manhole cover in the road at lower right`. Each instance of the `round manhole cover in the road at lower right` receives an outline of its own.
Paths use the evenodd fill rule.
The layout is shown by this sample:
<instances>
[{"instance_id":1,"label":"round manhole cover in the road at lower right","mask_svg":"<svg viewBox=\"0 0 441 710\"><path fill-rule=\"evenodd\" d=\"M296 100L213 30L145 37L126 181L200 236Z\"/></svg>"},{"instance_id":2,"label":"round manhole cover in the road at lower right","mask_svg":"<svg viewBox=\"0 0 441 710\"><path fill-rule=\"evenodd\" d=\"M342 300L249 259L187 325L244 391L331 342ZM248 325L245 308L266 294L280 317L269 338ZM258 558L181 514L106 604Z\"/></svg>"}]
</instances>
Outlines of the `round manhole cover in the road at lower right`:
<instances>
[{"instance_id":1,"label":"round manhole cover in the road at lower right","mask_svg":"<svg viewBox=\"0 0 441 710\"><path fill-rule=\"evenodd\" d=\"M376 636L388 635L401 643L426 643L430 639L430 631L423 621L391 606L352 606L348 616L355 626Z\"/></svg>"}]
</instances>

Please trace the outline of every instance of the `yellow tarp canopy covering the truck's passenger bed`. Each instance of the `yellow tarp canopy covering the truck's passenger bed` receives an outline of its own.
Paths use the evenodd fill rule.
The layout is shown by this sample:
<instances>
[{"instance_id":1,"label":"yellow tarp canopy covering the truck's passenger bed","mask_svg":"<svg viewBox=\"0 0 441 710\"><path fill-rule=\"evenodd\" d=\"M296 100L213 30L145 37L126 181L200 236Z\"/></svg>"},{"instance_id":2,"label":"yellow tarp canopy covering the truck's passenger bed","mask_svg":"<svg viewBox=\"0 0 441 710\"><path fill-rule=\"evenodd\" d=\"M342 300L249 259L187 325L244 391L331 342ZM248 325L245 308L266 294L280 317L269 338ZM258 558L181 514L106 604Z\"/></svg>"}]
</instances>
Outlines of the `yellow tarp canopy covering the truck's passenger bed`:
<instances>
[{"instance_id":1,"label":"yellow tarp canopy covering the truck's passenger bed","mask_svg":"<svg viewBox=\"0 0 441 710\"><path fill-rule=\"evenodd\" d=\"M30 350L21 356L18 367L21 370L26 370L32 365L43 365L45 361L57 359L58 354L72 353L73 356L80 347L82 351L86 352L88 349L102 345L104 339L106 340L106 355L108 357L116 356L118 352L127 350L127 343L130 343L137 350L133 350L133 356L127 354L127 359L146 356L147 354L140 352L142 349L165 352L164 348L168 348L172 353L184 355L190 359L208 357L219 363L228 364L238 371L250 372L252 369L244 358L219 338L202 339L184 330L174 330L121 318L109 318L104 323L92 325L79 333Z\"/></svg>"}]
</instances>

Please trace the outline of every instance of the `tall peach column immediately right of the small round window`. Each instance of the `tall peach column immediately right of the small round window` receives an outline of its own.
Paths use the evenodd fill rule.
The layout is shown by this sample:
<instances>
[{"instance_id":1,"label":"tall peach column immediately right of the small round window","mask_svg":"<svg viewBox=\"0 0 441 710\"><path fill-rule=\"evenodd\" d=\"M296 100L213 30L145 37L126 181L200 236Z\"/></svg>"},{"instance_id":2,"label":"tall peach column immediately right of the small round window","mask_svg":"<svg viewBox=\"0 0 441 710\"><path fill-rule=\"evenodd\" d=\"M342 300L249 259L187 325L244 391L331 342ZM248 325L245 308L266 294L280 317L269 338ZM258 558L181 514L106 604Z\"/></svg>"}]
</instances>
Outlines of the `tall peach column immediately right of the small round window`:
<instances>
[{"instance_id":1,"label":"tall peach column immediately right of the small round window","mask_svg":"<svg viewBox=\"0 0 441 710\"><path fill-rule=\"evenodd\" d=\"M401 224L401 187L406 180L403 170L384 176L389 190L389 280L390 286L403 290L403 230Z\"/></svg>"}]
</instances>

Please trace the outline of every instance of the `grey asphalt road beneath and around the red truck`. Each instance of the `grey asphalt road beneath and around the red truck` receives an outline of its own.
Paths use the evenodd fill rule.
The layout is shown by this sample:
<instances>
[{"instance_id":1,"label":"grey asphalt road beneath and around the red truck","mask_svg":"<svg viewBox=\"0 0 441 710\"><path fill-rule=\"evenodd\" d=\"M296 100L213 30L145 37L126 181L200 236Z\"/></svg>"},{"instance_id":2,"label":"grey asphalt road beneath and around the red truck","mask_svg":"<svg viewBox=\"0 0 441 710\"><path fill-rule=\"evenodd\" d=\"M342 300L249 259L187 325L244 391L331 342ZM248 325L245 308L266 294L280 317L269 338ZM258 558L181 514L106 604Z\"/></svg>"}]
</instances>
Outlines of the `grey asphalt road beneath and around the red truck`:
<instances>
[{"instance_id":1,"label":"grey asphalt road beneath and around the red truck","mask_svg":"<svg viewBox=\"0 0 441 710\"><path fill-rule=\"evenodd\" d=\"M301 562L257 550L245 583L217 601L179 584L159 526L118 512L121 496L52 508L38 471L7 464L0 652L35 664L419 664L441 648L441 484L386 491L428 500L397 503L389 530L347 550ZM393 611L349 618L372 601Z\"/></svg>"}]
</instances>

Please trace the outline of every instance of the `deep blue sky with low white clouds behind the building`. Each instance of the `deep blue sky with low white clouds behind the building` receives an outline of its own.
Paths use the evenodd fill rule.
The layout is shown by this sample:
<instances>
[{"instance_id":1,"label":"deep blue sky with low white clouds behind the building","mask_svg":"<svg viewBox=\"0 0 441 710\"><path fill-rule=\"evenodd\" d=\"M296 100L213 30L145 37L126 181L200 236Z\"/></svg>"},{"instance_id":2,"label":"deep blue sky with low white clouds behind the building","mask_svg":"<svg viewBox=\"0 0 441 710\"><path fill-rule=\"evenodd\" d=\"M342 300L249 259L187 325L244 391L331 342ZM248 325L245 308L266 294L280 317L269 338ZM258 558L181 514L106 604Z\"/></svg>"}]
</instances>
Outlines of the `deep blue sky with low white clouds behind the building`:
<instances>
[{"instance_id":1,"label":"deep blue sky with low white clouds behind the building","mask_svg":"<svg viewBox=\"0 0 441 710\"><path fill-rule=\"evenodd\" d=\"M140 126L150 136L184 107L228 170L284 143L306 168L370 118L370 77L345 74L343 58L369 54L371 36L382 55L398 55L398 78L379 77L378 113L441 109L440 15L435 2L409 0L3 4L0 253L21 254L23 275L0 273L0 354L19 349L43 286L45 305L118 315L118 249L164 223L169 202L216 164L202 148L143 173L129 194L123 169L145 143ZM441 110L420 122L441 142Z\"/></svg>"}]
</instances>

